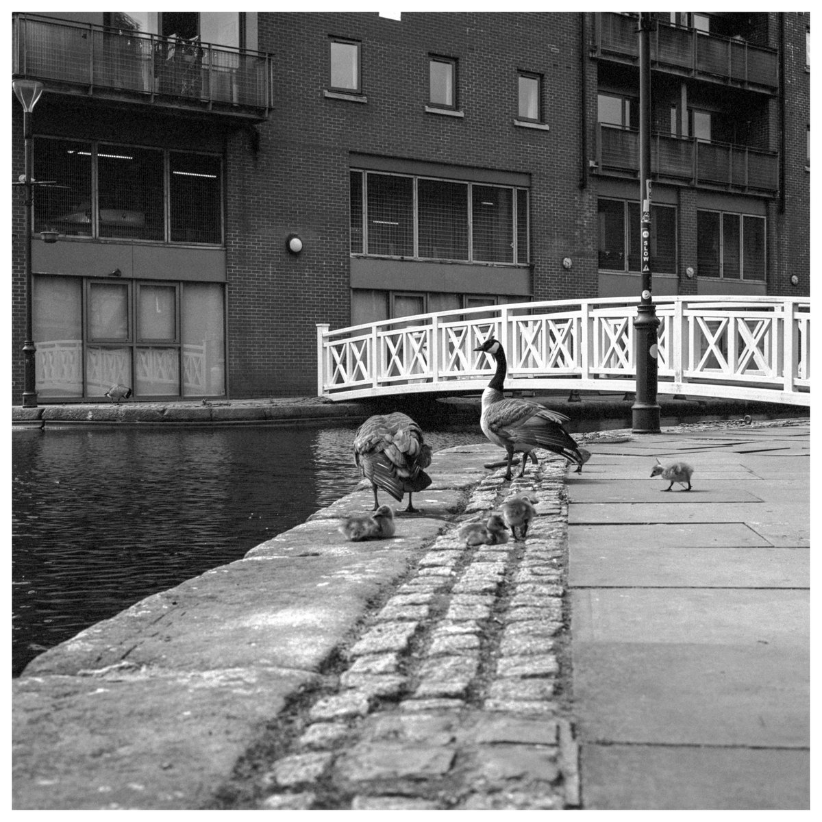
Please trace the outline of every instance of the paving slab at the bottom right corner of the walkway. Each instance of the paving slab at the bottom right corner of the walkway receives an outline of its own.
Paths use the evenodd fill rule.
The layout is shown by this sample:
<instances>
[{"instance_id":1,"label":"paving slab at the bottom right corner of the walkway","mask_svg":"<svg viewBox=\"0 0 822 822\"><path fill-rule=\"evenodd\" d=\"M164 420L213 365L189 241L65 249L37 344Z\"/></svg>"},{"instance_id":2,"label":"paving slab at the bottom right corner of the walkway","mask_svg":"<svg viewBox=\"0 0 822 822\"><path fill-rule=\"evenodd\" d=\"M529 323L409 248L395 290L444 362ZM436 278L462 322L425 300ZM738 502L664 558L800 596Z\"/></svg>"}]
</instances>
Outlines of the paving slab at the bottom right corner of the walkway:
<instances>
[{"instance_id":1,"label":"paving slab at the bottom right corner of the walkway","mask_svg":"<svg viewBox=\"0 0 822 822\"><path fill-rule=\"evenodd\" d=\"M589 745L587 810L800 810L810 806L807 750Z\"/></svg>"}]
</instances>

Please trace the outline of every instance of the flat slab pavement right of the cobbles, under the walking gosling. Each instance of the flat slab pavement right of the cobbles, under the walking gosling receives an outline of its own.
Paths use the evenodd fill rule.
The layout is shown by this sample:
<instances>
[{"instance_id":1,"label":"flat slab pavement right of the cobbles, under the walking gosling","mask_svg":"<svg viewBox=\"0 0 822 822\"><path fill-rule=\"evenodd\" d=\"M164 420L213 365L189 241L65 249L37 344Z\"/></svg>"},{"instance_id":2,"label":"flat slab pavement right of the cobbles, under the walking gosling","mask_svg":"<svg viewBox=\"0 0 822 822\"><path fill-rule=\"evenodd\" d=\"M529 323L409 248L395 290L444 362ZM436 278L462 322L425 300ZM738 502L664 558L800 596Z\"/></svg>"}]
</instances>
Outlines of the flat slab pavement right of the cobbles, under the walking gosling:
<instances>
[{"instance_id":1,"label":"flat slab pavement right of the cobbles, under the walking gosling","mask_svg":"<svg viewBox=\"0 0 822 822\"><path fill-rule=\"evenodd\" d=\"M603 444L568 498L583 806L808 808L810 427Z\"/></svg>"}]
</instances>

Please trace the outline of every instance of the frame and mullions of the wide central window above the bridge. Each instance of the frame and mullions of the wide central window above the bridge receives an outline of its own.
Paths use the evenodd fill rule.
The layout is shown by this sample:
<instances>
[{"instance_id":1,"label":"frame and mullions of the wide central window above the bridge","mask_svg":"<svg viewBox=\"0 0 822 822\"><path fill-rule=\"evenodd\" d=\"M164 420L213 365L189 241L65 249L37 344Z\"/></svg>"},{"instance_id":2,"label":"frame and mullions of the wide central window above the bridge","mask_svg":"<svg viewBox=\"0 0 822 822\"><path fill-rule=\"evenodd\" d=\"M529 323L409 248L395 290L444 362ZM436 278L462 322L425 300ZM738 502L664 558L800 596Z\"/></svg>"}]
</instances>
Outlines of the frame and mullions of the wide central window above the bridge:
<instances>
[{"instance_id":1,"label":"frame and mullions of the wide central window above the bridge","mask_svg":"<svg viewBox=\"0 0 822 822\"><path fill-rule=\"evenodd\" d=\"M494 183L494 182L481 182L481 181L473 181L473 180L459 180L456 178L448 178L448 177L440 177L434 176L431 174L409 174L409 173L402 173L402 172L390 172L390 171L376 171L371 169L360 169L360 168L351 168L349 169L349 181L351 174L360 174L361 177L361 184L360 184L360 193L361 193L361 206L358 209L359 217L361 218L361 247L362 251L351 251L352 247L352 238L353 238L353 226L351 224L350 218L353 216L353 211L350 210L350 200L349 200L349 256L352 257L369 257L369 258L376 258L376 259L390 259L390 260L412 260L412 261L439 261L439 262L448 262L448 263L455 263L461 265L475 265L475 266L510 266L511 268L523 268L531 265L531 258L530 258L530 244L531 244L531 197L530 197L530 189L524 186L515 186L515 185L503 185L501 183ZM413 240L412 240L412 254L410 256L397 256L397 255L390 255L390 254L375 254L373 252L368 251L369 242L368 242L368 177L369 175L376 174L380 176L393 176L393 177L402 177L402 178L410 178L412 181L412 193L411 193L411 205L412 205L412 220L413 220ZM420 256L419 253L419 196L418 196L418 183L420 180L432 180L435 182L449 182L455 183L458 185L463 185L466 187L466 205L467 205L467 217L468 217L468 256L466 259L456 259L453 257L423 257ZM482 187L494 187L494 188L502 188L506 189L510 192L511 197L511 258L510 262L494 262L494 261L483 261L478 260L475 256L474 252L474 243L473 243L473 186L482 186ZM349 182L349 192L351 191L350 182ZM520 249L520 192L524 192L524 210L525 210L525 226L524 226L524 242L525 242L525 249L524 255L521 253ZM523 258L523 259L521 259Z\"/></svg>"}]
</instances>

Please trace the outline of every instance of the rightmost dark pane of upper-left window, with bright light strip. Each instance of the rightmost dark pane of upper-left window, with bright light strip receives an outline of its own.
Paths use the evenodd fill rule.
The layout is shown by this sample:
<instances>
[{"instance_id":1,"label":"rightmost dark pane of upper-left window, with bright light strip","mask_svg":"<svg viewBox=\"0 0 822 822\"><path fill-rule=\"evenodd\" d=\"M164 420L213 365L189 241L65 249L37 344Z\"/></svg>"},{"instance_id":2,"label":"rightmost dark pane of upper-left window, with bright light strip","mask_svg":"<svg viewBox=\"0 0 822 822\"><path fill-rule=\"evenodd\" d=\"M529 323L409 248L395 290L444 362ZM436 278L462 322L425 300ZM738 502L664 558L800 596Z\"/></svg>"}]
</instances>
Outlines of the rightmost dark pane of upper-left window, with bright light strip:
<instances>
[{"instance_id":1,"label":"rightmost dark pane of upper-left window, with bright light strip","mask_svg":"<svg viewBox=\"0 0 822 822\"><path fill-rule=\"evenodd\" d=\"M172 242L222 242L219 157L169 155Z\"/></svg>"}]
</instances>

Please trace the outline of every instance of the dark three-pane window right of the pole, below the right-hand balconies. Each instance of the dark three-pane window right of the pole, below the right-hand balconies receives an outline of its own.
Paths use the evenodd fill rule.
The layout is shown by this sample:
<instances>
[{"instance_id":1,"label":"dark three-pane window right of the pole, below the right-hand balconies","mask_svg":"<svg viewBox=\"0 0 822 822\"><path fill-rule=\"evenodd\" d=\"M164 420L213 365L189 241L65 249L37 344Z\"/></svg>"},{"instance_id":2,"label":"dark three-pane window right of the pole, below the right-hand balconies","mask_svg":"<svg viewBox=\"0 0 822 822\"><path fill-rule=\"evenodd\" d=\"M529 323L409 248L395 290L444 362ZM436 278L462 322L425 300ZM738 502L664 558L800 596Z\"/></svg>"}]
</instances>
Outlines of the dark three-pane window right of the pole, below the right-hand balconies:
<instances>
[{"instance_id":1,"label":"dark three-pane window right of the pole, below the right-hand balconies","mask_svg":"<svg viewBox=\"0 0 822 822\"><path fill-rule=\"evenodd\" d=\"M701 277L765 279L765 220L721 211L696 212Z\"/></svg>"}]
</instances>

